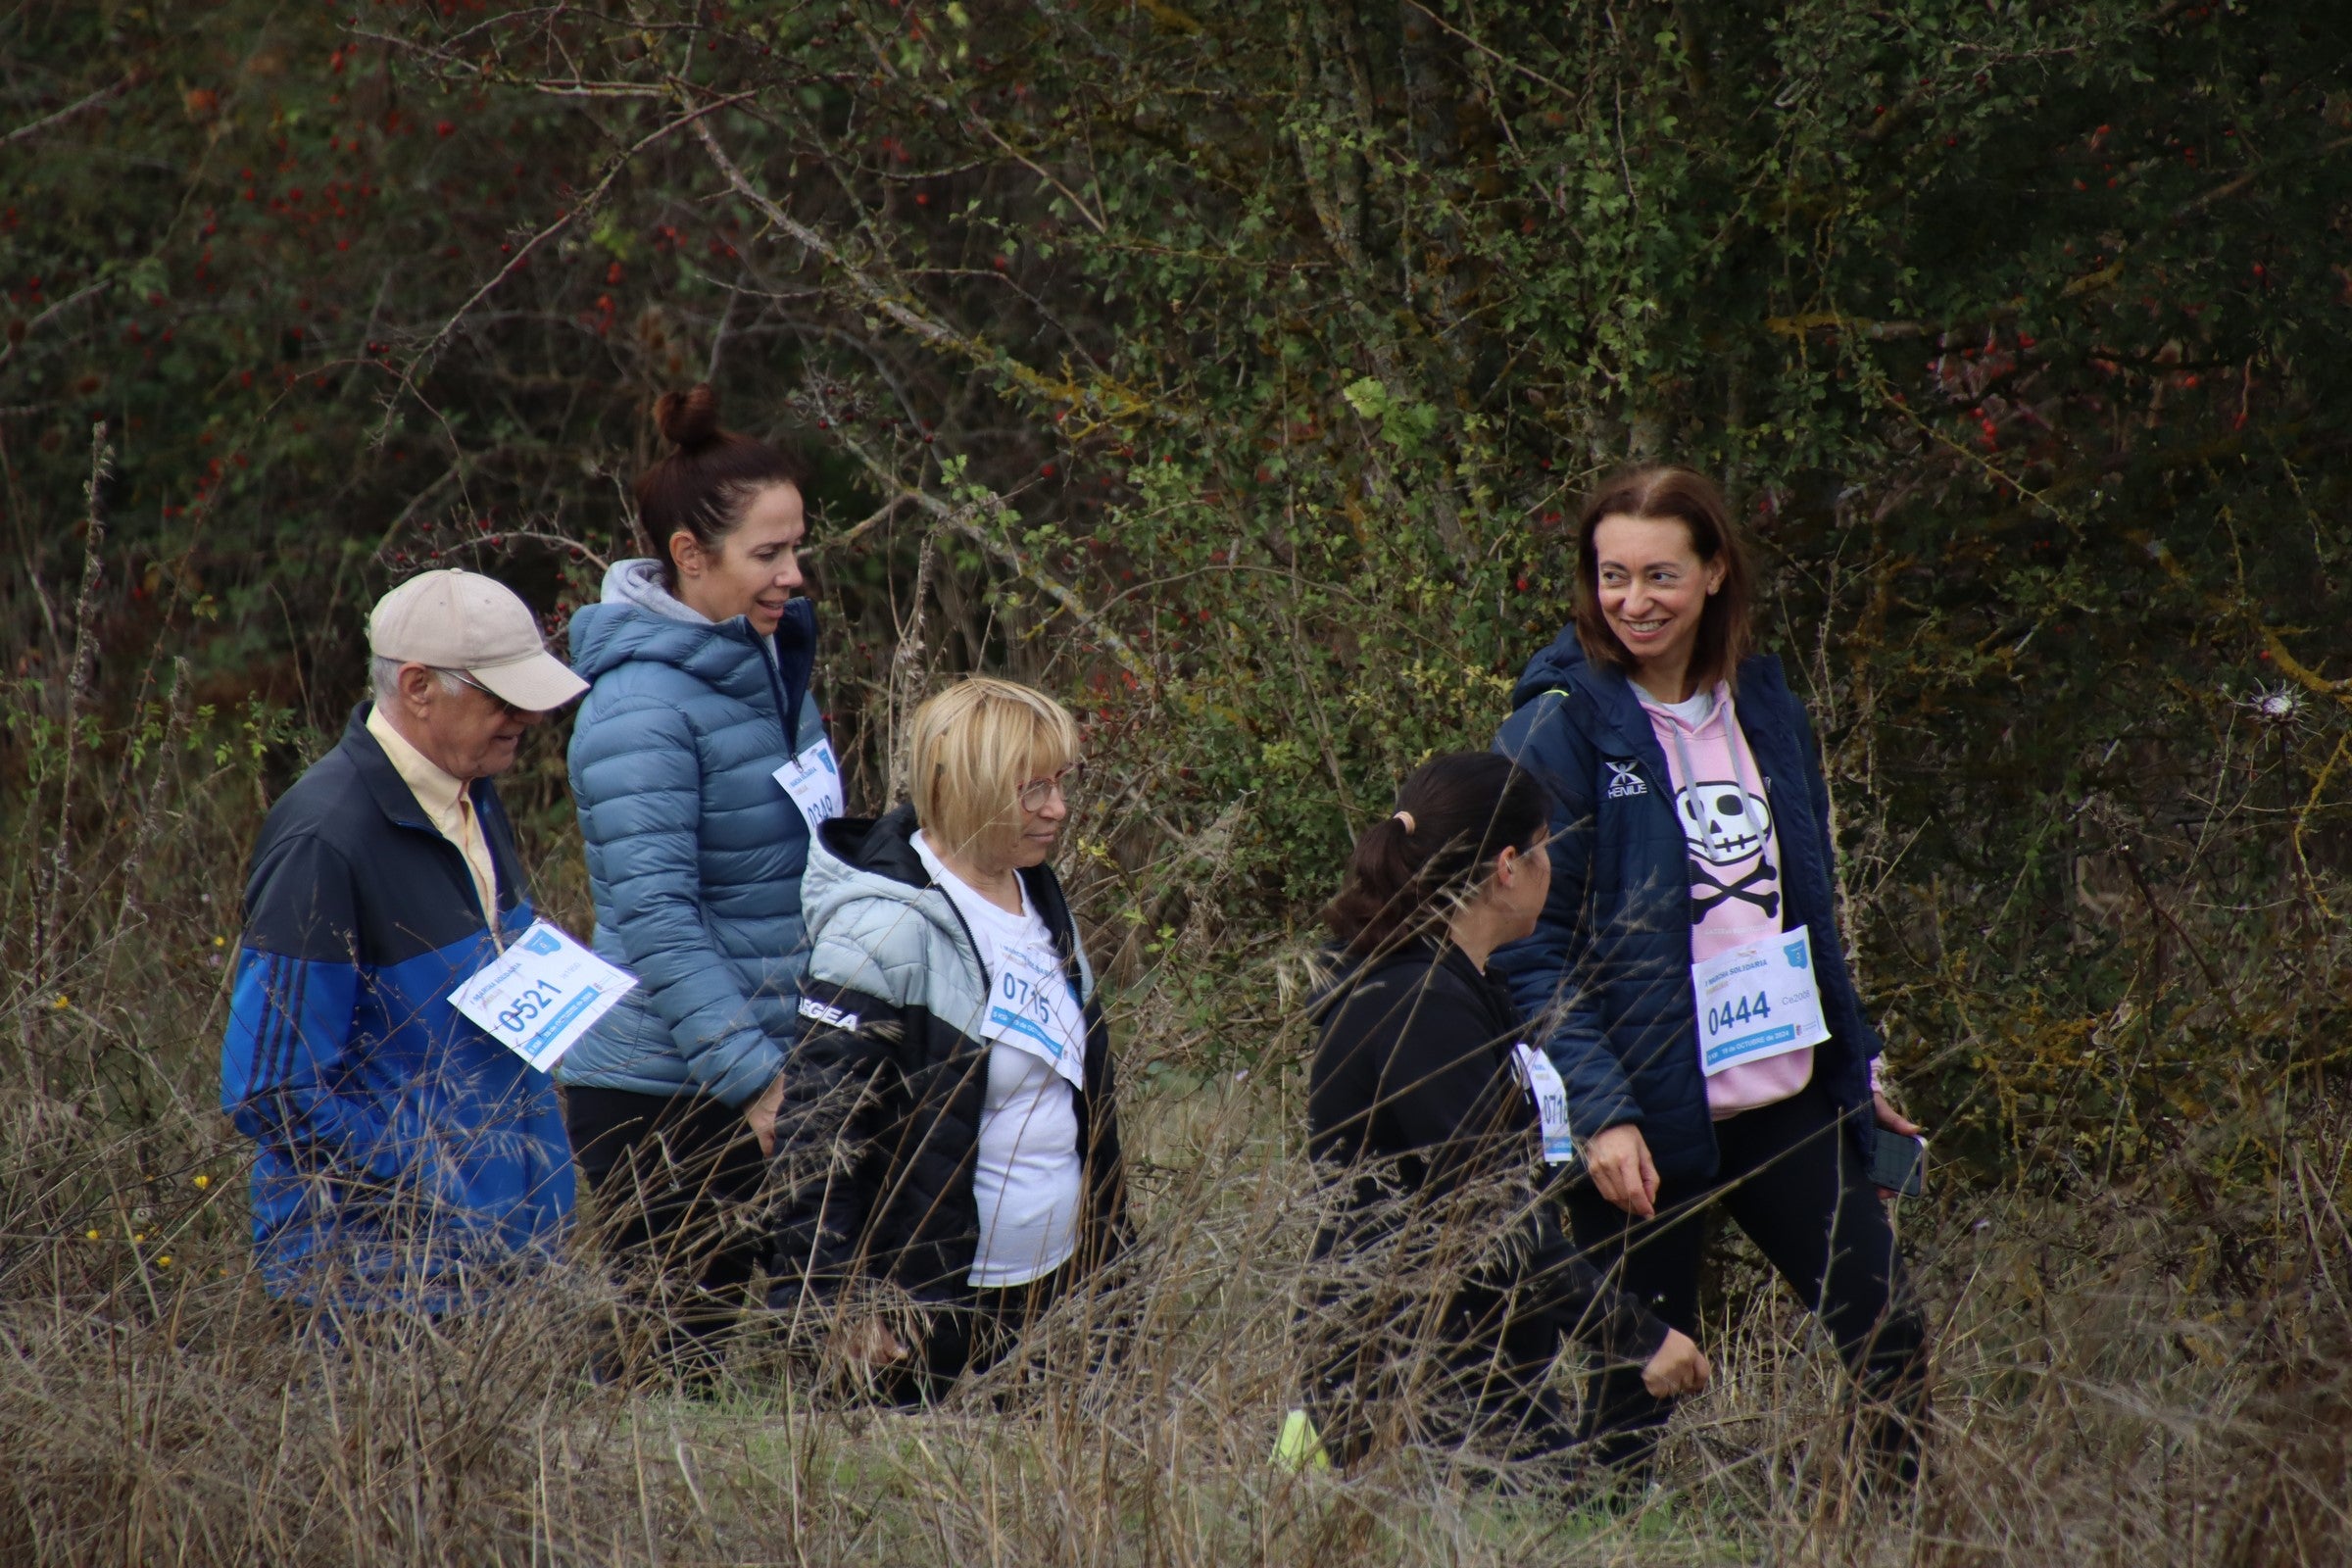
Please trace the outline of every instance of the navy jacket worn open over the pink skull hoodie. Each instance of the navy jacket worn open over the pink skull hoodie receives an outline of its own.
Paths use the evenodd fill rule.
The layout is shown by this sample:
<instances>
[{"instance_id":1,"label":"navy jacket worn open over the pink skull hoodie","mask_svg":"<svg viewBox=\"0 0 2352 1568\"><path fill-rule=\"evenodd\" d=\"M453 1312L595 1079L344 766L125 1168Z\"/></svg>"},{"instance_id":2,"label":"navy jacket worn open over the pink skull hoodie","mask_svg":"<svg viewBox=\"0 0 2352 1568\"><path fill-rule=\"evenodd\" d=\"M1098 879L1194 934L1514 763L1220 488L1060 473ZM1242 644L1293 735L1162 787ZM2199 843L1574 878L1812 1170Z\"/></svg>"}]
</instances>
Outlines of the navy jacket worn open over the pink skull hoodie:
<instances>
[{"instance_id":1,"label":"navy jacket worn open over the pink skull hoodie","mask_svg":"<svg viewBox=\"0 0 2352 1568\"><path fill-rule=\"evenodd\" d=\"M1846 973L1837 931L1837 851L1830 792L1804 703L1780 661L1738 668L1738 722L1764 771L1780 842L1783 929L1809 926L1830 1039L1813 1051L1813 1081L1846 1112L1870 1154L1870 1058L1879 1034ZM1498 947L1534 1037L1569 1086L1578 1140L1630 1121L1658 1175L1715 1175L1715 1119L1698 1067L1691 999L1691 867L1675 818L1665 750L1618 670L1585 661L1571 625L1529 661L1494 750L1552 792L1552 893L1536 933Z\"/></svg>"}]
</instances>

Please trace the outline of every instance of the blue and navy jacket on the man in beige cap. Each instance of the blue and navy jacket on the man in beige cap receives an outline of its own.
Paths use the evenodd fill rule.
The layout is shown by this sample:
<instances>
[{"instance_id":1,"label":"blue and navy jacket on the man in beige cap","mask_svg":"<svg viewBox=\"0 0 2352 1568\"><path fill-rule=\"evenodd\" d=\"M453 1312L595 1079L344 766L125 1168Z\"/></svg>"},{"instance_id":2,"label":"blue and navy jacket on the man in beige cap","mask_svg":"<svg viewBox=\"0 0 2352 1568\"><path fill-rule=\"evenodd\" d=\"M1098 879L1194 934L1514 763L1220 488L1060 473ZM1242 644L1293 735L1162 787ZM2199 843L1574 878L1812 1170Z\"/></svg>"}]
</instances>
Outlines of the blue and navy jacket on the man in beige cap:
<instances>
[{"instance_id":1,"label":"blue and navy jacket on the man in beige cap","mask_svg":"<svg viewBox=\"0 0 2352 1568\"><path fill-rule=\"evenodd\" d=\"M548 1074L452 994L529 929L515 830L468 785L501 943L456 844L367 733L270 809L245 886L221 1110L256 1145L254 1251L273 1293L447 1307L461 1274L553 1255L572 1147Z\"/></svg>"}]
</instances>

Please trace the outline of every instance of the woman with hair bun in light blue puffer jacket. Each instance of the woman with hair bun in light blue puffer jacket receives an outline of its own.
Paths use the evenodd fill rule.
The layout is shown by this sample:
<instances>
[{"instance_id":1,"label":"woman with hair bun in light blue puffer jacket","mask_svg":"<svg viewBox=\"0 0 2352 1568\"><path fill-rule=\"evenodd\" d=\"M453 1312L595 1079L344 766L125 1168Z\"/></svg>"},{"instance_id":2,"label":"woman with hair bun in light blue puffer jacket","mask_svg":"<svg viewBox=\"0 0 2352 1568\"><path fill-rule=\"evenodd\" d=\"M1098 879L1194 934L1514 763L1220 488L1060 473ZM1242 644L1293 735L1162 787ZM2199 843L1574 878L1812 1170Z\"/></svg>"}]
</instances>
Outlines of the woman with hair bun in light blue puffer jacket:
<instances>
[{"instance_id":1,"label":"woman with hair bun in light blue puffer jacket","mask_svg":"<svg viewBox=\"0 0 2352 1568\"><path fill-rule=\"evenodd\" d=\"M684 1352L680 1371L706 1375L760 1260L736 1211L797 1037L809 830L842 795L809 698L816 614L795 597L804 468L720 430L708 386L654 416L675 451L637 480L637 512L666 559L614 564L572 618L595 950L637 987L555 1077L607 1255L647 1307L616 1359Z\"/></svg>"}]
</instances>

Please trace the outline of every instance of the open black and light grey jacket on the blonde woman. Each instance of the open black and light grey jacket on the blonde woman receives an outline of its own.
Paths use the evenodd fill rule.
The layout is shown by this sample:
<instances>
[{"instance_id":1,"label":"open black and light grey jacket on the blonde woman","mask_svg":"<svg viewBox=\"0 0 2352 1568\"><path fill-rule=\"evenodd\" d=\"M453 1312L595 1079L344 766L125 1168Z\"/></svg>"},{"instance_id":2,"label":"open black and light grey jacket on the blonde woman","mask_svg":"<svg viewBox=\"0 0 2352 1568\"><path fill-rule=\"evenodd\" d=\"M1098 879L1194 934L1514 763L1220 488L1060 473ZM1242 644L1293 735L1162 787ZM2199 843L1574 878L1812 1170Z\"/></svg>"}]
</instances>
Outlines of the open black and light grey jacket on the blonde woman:
<instances>
[{"instance_id":1,"label":"open black and light grey jacket on the blonde woman","mask_svg":"<svg viewBox=\"0 0 2352 1568\"><path fill-rule=\"evenodd\" d=\"M969 1302L981 1241L971 1197L988 1051L978 1039L993 978L946 889L915 853L908 806L835 818L809 851L802 907L811 952L800 1013L809 1034L786 1060L786 1194L771 1305L823 1302L851 1281L887 1281L917 1302ZM1080 1272L1122 1246L1124 1178L1112 1107L1110 1032L1051 867L1021 872L1054 933L1087 1018L1075 1095L1087 1201Z\"/></svg>"}]
</instances>

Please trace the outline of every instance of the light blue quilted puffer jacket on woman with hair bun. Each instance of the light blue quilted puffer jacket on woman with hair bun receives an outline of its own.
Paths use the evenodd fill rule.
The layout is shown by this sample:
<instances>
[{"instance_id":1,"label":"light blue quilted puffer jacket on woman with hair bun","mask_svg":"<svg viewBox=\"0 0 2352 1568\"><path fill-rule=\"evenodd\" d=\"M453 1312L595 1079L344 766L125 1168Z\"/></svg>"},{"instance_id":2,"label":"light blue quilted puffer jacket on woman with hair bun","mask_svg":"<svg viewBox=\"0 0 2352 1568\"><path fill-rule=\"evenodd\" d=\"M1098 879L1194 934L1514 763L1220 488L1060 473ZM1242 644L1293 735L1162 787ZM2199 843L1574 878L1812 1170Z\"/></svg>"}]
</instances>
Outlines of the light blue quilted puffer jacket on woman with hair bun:
<instances>
[{"instance_id":1,"label":"light blue quilted puffer jacket on woman with hair bun","mask_svg":"<svg viewBox=\"0 0 2352 1568\"><path fill-rule=\"evenodd\" d=\"M807 964L800 872L809 827L776 783L826 738L809 698L816 611L793 599L774 656L750 621L710 623L616 562L572 616L588 677L572 729L572 799L588 844L595 950L637 990L557 1063L562 1084L743 1105L783 1070Z\"/></svg>"}]
</instances>

